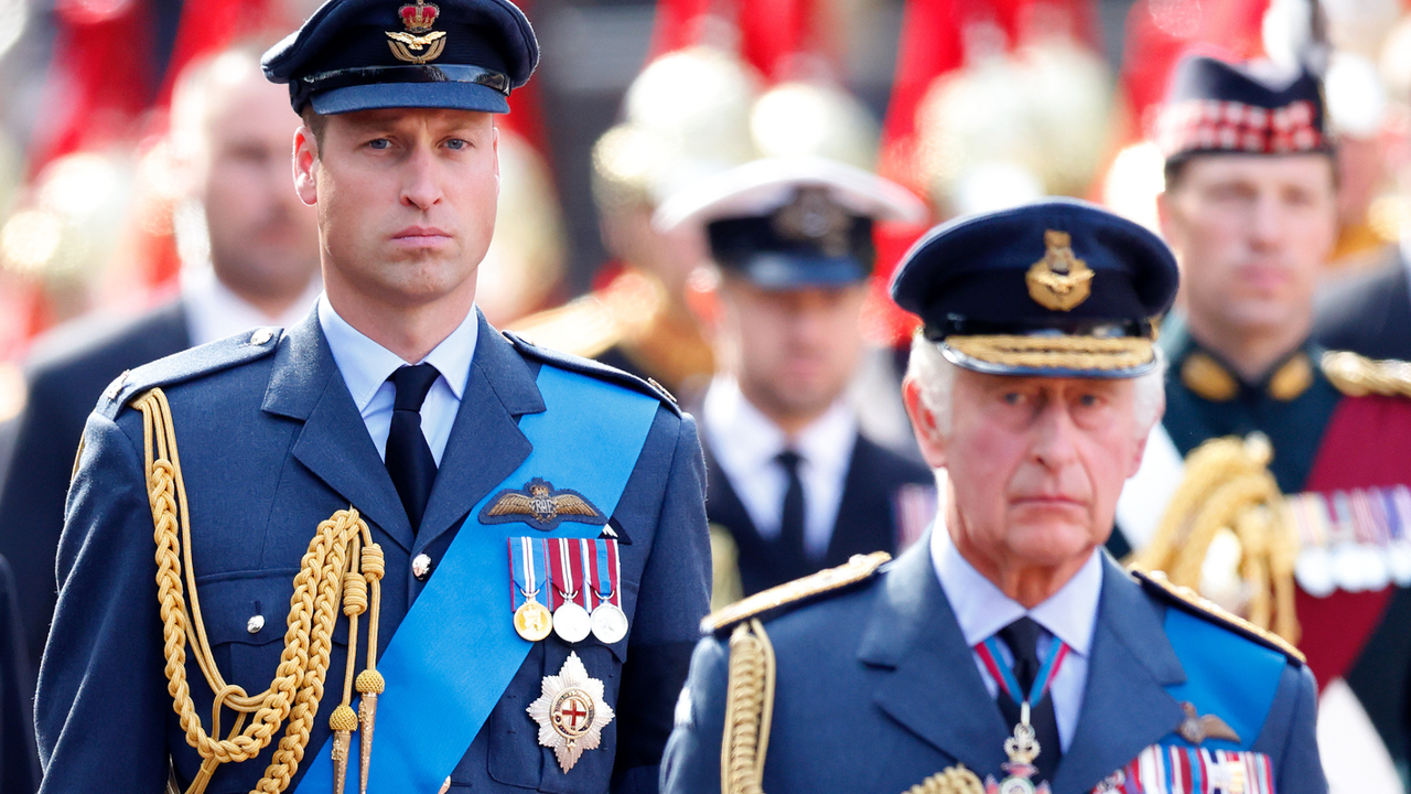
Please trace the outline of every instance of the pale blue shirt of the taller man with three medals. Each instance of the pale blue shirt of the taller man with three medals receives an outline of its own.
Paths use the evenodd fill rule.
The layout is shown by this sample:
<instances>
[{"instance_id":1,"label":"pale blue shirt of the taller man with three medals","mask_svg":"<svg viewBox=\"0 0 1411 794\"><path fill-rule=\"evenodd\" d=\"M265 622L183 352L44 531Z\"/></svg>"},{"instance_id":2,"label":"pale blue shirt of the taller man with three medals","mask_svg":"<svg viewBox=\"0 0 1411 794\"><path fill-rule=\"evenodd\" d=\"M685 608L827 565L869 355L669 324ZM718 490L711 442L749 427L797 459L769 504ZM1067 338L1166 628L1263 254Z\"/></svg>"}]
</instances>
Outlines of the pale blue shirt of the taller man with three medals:
<instances>
[{"instance_id":1,"label":"pale blue shirt of the taller man with three medals","mask_svg":"<svg viewBox=\"0 0 1411 794\"><path fill-rule=\"evenodd\" d=\"M442 454L446 452L450 428L456 424L456 411L460 410L466 383L470 380L470 360L480 336L477 314L471 308L450 336L436 345L425 359L412 362L432 365L440 372L440 377L426 393L426 401L422 403L422 434L426 435L426 445L432 448L437 466ZM327 295L319 297L319 325L323 326L323 336L333 350L333 362L343 373L343 383L353 394L353 404L357 405L367 432L377 445L377 454L387 459L387 432L392 427L392 403L396 397L396 387L387 379L408 362L349 325L333 311Z\"/></svg>"}]
</instances>

